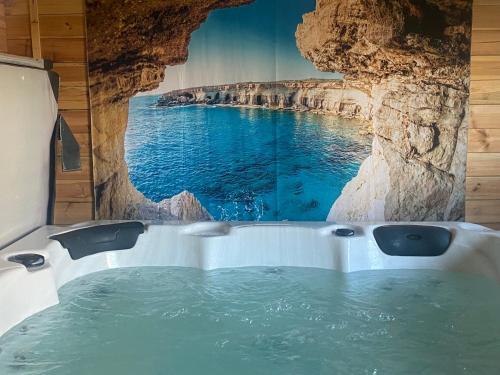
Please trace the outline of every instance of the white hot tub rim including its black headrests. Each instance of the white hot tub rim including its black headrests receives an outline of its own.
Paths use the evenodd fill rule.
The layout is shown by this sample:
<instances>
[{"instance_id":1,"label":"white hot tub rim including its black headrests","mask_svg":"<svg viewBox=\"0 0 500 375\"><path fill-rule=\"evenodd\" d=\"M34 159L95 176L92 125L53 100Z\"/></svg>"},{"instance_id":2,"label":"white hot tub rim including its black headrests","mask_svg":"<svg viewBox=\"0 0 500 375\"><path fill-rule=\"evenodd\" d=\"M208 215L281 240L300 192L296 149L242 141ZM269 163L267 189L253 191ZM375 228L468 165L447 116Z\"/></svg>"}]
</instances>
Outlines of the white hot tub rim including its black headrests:
<instances>
[{"instance_id":1,"label":"white hot tub rim including its black headrests","mask_svg":"<svg viewBox=\"0 0 500 375\"><path fill-rule=\"evenodd\" d=\"M0 335L58 304L58 290L76 278L145 266L264 267L272 272L301 267L342 273L436 270L477 274L498 282L500 233L467 223L44 226L0 252Z\"/></svg>"}]
</instances>

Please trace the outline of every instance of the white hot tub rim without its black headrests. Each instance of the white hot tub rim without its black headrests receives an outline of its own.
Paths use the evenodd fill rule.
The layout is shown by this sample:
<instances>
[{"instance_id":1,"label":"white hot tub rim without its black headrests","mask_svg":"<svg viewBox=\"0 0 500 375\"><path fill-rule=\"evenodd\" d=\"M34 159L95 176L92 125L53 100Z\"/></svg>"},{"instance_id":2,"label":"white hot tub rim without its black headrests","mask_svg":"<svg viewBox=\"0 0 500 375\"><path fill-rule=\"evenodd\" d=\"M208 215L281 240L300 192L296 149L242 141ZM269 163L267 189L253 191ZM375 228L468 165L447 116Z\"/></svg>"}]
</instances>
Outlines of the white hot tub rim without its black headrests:
<instances>
[{"instance_id":1,"label":"white hot tub rim without its black headrests","mask_svg":"<svg viewBox=\"0 0 500 375\"><path fill-rule=\"evenodd\" d=\"M385 254L377 245L373 230L387 223L146 223L144 233L132 248L101 252L78 260L73 260L58 241L49 239L56 233L103 224L109 222L44 226L0 251L0 335L29 316L57 304L58 289L67 282L119 267L175 266L210 270L289 266L342 272L433 269L476 273L500 281L500 232L467 223L425 223L451 232L451 245L439 256ZM352 229L354 235L336 236L334 233L339 228ZM44 265L28 269L8 260L29 253L43 255Z\"/></svg>"}]
</instances>

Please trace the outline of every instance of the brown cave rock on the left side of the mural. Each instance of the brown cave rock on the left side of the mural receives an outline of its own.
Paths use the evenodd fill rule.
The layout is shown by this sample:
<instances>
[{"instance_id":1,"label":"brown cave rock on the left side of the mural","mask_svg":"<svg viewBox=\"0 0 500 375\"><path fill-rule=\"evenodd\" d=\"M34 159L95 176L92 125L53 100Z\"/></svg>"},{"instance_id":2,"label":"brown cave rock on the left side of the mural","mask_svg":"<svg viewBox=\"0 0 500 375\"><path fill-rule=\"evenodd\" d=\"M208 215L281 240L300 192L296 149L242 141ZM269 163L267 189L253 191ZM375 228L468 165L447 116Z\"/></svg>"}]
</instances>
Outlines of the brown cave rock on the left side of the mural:
<instances>
[{"instance_id":1,"label":"brown cave rock on the left side of the mural","mask_svg":"<svg viewBox=\"0 0 500 375\"><path fill-rule=\"evenodd\" d=\"M211 10L252 1L86 1L96 218L210 218L189 193L156 204L130 183L124 159L128 100L158 87L166 65L187 60L190 35Z\"/></svg>"}]
</instances>

